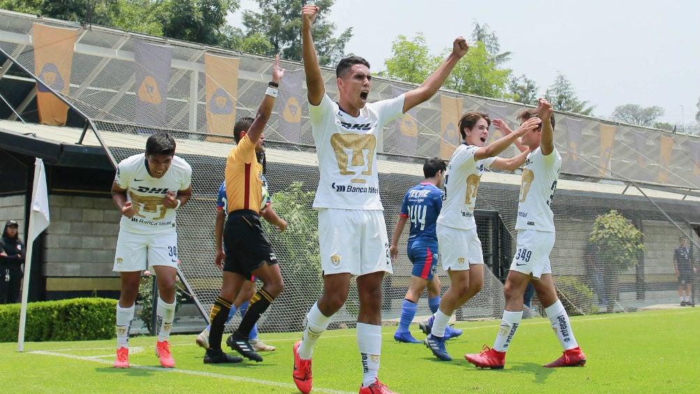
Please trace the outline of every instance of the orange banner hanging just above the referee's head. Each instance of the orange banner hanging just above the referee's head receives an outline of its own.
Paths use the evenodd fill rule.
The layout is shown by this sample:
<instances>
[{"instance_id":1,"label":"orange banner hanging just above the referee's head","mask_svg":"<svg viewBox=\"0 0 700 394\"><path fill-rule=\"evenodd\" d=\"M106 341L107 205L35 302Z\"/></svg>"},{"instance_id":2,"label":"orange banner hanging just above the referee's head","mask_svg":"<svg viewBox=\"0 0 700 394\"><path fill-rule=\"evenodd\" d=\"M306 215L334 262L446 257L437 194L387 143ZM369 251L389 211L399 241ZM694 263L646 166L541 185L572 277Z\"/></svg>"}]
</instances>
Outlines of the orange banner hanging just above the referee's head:
<instances>
[{"instance_id":1,"label":"orange banner hanging just above the referee's head","mask_svg":"<svg viewBox=\"0 0 700 394\"><path fill-rule=\"evenodd\" d=\"M240 59L204 54L207 86L207 133L233 137ZM207 141L233 142L232 138L207 136Z\"/></svg>"}]
</instances>

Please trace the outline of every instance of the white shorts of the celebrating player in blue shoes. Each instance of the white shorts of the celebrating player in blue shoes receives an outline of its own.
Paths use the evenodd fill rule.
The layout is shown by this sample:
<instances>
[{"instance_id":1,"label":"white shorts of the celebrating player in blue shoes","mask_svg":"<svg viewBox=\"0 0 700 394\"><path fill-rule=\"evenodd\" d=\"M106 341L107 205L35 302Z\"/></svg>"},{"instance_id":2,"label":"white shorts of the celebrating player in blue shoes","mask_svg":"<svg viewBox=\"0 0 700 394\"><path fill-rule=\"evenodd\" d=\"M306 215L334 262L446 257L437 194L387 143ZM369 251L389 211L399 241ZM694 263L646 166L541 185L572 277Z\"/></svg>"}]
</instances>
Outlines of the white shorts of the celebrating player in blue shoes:
<instances>
[{"instance_id":1,"label":"white shorts of the celebrating player in blue shoes","mask_svg":"<svg viewBox=\"0 0 700 394\"><path fill-rule=\"evenodd\" d=\"M464 230L437 223L437 244L440 246L442 269L465 271L470 264L484 264L484 253L477 229Z\"/></svg>"}]
</instances>

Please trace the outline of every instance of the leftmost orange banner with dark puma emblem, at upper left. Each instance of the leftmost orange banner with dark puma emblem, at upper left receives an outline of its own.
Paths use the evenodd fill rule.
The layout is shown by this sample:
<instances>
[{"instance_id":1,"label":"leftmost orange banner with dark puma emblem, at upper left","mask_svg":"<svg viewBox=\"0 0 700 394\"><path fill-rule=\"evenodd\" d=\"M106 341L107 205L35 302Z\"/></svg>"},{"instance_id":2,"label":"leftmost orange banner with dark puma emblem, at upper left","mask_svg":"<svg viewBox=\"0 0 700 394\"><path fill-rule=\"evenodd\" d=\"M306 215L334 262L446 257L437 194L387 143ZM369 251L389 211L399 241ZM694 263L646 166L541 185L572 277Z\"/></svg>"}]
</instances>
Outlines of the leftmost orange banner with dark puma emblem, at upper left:
<instances>
[{"instance_id":1,"label":"leftmost orange banner with dark puma emblem, at upper left","mask_svg":"<svg viewBox=\"0 0 700 394\"><path fill-rule=\"evenodd\" d=\"M71 83L73 47L78 29L32 24L34 41L34 73L36 73L36 107L39 122L63 126L68 117L68 105L56 97L47 86L68 96Z\"/></svg>"}]
</instances>

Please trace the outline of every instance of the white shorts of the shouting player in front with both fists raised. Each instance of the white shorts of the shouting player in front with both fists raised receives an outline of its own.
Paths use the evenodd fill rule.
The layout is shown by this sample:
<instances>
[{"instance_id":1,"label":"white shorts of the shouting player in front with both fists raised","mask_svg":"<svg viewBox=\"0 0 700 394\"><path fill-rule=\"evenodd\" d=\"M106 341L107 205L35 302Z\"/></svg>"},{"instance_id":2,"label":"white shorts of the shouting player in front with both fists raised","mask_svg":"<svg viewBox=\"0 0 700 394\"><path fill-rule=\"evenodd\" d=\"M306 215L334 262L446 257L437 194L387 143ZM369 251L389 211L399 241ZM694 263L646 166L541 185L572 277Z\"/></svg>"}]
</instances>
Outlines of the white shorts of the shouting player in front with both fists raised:
<instances>
[{"instance_id":1,"label":"white shorts of the shouting player in front with both fists raised","mask_svg":"<svg viewBox=\"0 0 700 394\"><path fill-rule=\"evenodd\" d=\"M391 274L384 211L318 210L318 244L323 274Z\"/></svg>"}]
</instances>

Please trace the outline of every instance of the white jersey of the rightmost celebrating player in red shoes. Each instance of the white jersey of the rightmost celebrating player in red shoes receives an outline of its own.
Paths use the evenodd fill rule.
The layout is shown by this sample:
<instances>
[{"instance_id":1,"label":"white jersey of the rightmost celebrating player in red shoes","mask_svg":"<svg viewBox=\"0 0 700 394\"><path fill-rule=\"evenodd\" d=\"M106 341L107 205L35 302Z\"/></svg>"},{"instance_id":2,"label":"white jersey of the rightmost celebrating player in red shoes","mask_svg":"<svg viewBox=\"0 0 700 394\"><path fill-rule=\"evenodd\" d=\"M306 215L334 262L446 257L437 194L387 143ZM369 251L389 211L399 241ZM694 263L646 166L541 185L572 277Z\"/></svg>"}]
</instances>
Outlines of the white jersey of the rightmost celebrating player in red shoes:
<instances>
[{"instance_id":1,"label":"white jersey of the rightmost celebrating player in red shoes","mask_svg":"<svg viewBox=\"0 0 700 394\"><path fill-rule=\"evenodd\" d=\"M541 147L528 153L521 178L515 230L554 232L554 213L549 204L554 198L560 169L561 155L556 148L547 156L542 155Z\"/></svg>"}]
</instances>

